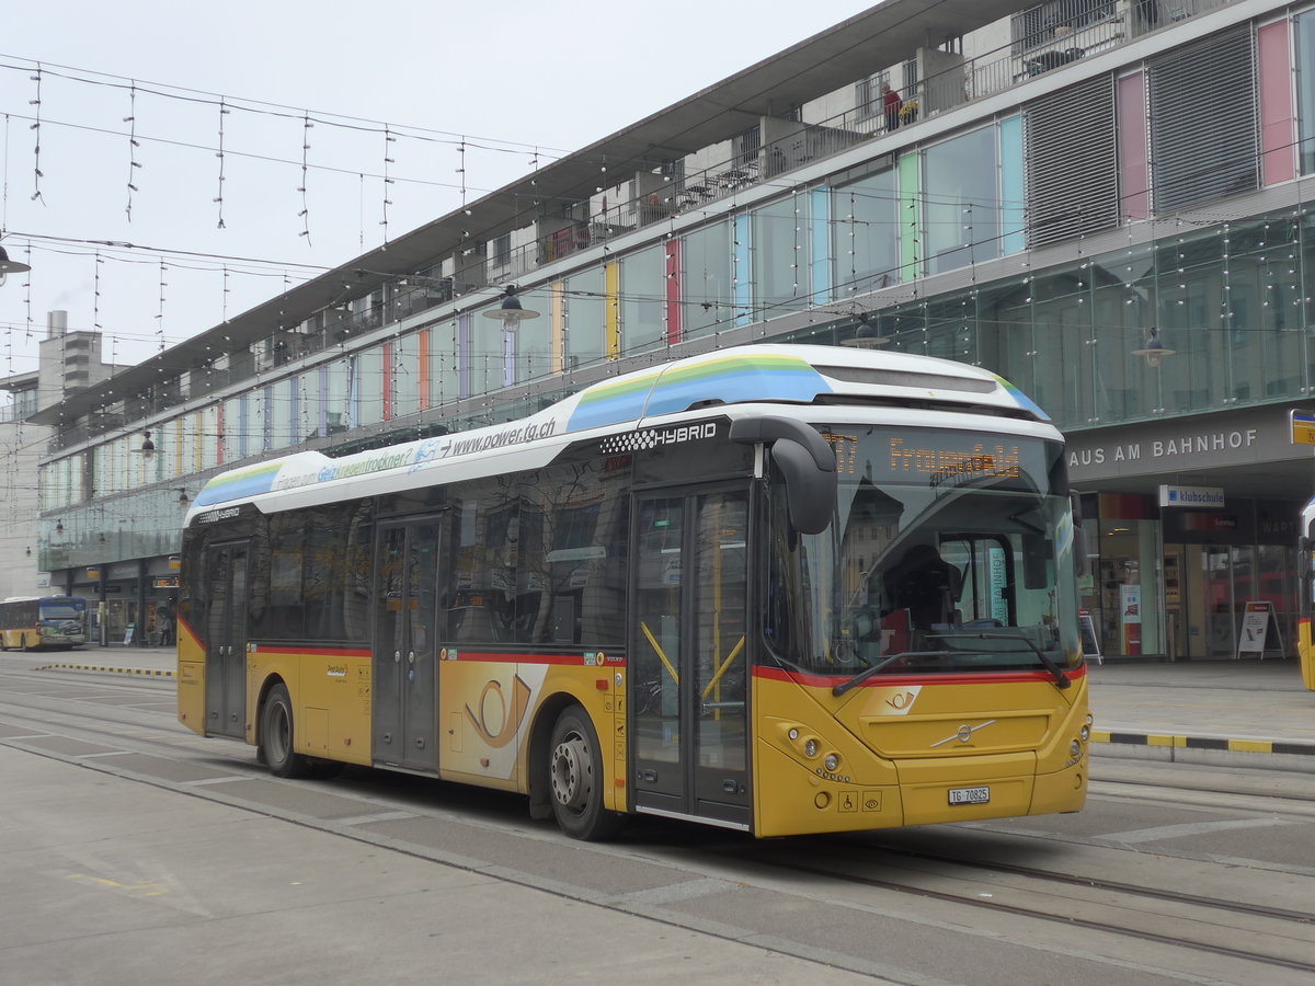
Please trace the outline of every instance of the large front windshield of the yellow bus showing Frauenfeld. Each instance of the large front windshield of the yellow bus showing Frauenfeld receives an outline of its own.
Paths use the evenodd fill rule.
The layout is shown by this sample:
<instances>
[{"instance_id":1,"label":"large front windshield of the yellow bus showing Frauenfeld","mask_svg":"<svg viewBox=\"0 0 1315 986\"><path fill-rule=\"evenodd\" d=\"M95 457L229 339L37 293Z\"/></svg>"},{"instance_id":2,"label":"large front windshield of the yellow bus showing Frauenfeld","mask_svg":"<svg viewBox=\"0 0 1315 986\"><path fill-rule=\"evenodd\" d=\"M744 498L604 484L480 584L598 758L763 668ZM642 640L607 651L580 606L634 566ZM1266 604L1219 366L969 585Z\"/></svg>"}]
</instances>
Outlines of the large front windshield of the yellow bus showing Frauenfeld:
<instances>
[{"instance_id":1,"label":"large front windshield of the yellow bus showing Frauenfeld","mask_svg":"<svg viewBox=\"0 0 1315 986\"><path fill-rule=\"evenodd\" d=\"M784 489L771 497L764 630L778 660L847 676L1081 664L1060 443L892 426L822 433L839 471L831 526L801 535Z\"/></svg>"}]
</instances>

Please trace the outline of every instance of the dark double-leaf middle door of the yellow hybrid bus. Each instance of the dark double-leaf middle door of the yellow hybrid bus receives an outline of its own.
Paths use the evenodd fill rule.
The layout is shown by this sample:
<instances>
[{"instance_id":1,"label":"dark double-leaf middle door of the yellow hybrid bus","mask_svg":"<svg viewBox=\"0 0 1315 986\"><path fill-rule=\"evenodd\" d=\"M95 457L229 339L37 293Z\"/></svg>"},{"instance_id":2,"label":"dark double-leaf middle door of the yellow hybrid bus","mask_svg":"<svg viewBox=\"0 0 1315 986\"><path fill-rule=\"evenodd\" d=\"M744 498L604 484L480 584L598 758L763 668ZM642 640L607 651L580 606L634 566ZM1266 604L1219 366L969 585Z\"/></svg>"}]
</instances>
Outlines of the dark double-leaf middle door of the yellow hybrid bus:
<instances>
[{"instance_id":1,"label":"dark double-leaf middle door of the yellow hybrid bus","mask_svg":"<svg viewBox=\"0 0 1315 986\"><path fill-rule=\"evenodd\" d=\"M437 522L380 528L375 563L375 763L438 770Z\"/></svg>"}]
</instances>

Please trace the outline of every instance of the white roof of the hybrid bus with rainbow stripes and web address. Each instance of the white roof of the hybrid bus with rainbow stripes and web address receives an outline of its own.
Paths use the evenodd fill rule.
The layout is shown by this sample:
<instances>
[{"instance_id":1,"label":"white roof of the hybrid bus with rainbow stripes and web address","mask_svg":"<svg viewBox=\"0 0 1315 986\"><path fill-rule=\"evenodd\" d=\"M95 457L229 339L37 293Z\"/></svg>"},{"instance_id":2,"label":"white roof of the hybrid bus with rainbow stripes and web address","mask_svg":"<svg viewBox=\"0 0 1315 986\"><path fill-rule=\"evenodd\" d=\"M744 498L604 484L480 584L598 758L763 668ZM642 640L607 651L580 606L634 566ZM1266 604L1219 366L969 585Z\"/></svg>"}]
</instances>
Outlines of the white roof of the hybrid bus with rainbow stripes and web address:
<instances>
[{"instance_id":1,"label":"white roof of the hybrid bus with rainbow stripes and web address","mask_svg":"<svg viewBox=\"0 0 1315 986\"><path fill-rule=\"evenodd\" d=\"M593 384L519 421L341 459L306 451L231 469L205 484L188 511L188 522L220 506L256 498L266 509L284 510L425 486L435 479L418 473L439 463L444 482L540 468L589 433L652 427L659 423L654 418L713 405L726 405L735 417L736 404L810 405L819 398L877 398L893 406L931 402L945 409L959 405L1001 417L1049 421L1016 388L981 367L835 346L740 346ZM504 456L505 465L490 467L490 458ZM398 482L398 477L405 480Z\"/></svg>"}]
</instances>

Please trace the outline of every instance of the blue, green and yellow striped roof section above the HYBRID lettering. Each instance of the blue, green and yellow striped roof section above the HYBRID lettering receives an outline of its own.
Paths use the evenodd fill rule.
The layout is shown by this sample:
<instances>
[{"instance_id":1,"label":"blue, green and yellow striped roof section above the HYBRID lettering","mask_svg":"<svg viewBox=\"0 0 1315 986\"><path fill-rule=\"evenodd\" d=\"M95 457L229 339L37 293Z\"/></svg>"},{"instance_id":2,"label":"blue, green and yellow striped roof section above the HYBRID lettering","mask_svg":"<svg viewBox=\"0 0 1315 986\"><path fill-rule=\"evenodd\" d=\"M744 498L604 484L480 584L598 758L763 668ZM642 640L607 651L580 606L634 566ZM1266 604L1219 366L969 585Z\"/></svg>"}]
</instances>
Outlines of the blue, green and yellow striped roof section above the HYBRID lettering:
<instances>
[{"instance_id":1,"label":"blue, green and yellow striped roof section above the HYBRID lettering","mask_svg":"<svg viewBox=\"0 0 1315 986\"><path fill-rule=\"evenodd\" d=\"M700 401L735 402L768 396L773 401L811 401L830 392L822 376L797 356L731 352L590 387L580 394L567 430L681 411Z\"/></svg>"}]
</instances>

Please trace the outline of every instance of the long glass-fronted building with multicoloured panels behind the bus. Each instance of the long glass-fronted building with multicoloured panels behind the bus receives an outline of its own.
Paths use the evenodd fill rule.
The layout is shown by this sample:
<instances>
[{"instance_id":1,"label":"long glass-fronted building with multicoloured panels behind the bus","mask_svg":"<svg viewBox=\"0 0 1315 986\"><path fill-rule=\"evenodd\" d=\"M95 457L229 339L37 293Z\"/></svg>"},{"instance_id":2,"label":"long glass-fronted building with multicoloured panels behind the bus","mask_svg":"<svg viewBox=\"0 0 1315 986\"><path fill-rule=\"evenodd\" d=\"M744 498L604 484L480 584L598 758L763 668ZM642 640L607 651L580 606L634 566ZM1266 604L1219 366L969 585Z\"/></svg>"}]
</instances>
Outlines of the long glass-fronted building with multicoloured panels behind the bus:
<instances>
[{"instance_id":1,"label":"long glass-fronted building with multicoloured panels behind the bus","mask_svg":"<svg viewBox=\"0 0 1315 986\"><path fill-rule=\"evenodd\" d=\"M179 490L237 463L514 418L704 348L861 337L988 367L1065 431L1105 653L1231 656L1257 599L1290 651L1310 476L1283 429L1315 400L1315 9L1202 0L1151 21L1124 0L1039 20L1052 5L889 50L915 104L899 126L871 112L874 76L836 67L788 117L635 158L560 213L456 251L434 233L421 271L266 326L135 404L82 396L41 469L45 567L84 594L117 572L145 607L150 576L167 593ZM849 30L871 21L876 45L880 17L917 7ZM852 41L807 43L826 64ZM508 330L485 316L513 279L539 317ZM1161 506L1161 486L1224 506Z\"/></svg>"}]
</instances>

